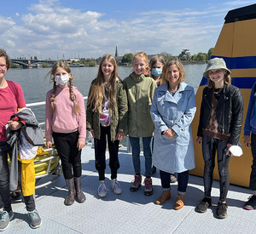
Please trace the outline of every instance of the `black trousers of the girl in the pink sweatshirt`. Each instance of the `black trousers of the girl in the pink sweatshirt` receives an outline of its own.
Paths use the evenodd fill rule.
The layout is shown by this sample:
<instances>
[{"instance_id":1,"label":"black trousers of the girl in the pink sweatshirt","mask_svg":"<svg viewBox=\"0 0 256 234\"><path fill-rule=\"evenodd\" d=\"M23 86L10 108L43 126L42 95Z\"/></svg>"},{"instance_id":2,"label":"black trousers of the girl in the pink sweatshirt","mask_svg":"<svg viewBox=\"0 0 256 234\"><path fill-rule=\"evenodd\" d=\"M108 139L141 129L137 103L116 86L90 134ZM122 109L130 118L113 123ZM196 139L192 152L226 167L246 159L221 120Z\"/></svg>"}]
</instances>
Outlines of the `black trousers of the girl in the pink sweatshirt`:
<instances>
[{"instance_id":1,"label":"black trousers of the girl in the pink sweatshirt","mask_svg":"<svg viewBox=\"0 0 256 234\"><path fill-rule=\"evenodd\" d=\"M70 134L52 134L58 155L61 157L61 166L65 180L82 175L81 151L77 144L79 131Z\"/></svg>"}]
</instances>

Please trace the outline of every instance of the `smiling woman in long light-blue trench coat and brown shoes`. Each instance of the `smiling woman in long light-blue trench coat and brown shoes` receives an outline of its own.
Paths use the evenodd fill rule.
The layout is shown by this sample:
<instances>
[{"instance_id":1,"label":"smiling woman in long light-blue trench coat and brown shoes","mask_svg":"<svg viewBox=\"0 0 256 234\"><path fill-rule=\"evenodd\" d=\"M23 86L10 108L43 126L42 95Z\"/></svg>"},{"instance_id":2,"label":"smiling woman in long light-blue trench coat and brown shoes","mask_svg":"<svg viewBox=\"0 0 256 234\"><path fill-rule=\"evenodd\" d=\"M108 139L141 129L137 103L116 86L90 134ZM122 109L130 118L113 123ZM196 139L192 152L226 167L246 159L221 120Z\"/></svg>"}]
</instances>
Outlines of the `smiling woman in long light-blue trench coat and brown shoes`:
<instances>
[{"instance_id":1,"label":"smiling woman in long light-blue trench coat and brown shoes","mask_svg":"<svg viewBox=\"0 0 256 234\"><path fill-rule=\"evenodd\" d=\"M195 116L194 88L184 83L185 74L180 60L166 63L163 84L155 89L151 106L154 122L153 164L160 169L163 188L157 204L171 198L170 174L177 173L175 209L183 208L189 182L189 170L195 168L194 147L190 123Z\"/></svg>"}]
</instances>

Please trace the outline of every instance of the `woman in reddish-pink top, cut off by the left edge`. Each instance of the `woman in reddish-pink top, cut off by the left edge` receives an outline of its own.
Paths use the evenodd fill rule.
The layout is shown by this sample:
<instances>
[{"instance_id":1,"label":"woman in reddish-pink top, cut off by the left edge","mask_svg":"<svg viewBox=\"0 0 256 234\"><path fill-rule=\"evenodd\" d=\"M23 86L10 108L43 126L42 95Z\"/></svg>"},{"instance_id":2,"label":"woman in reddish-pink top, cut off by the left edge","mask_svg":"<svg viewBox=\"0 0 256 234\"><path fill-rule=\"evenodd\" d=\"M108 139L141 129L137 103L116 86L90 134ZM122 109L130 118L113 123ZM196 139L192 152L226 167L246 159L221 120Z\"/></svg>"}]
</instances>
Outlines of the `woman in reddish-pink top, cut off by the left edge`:
<instances>
[{"instance_id":1,"label":"woman in reddish-pink top, cut off by the left edge","mask_svg":"<svg viewBox=\"0 0 256 234\"><path fill-rule=\"evenodd\" d=\"M13 148L6 138L6 124L14 131L19 131L25 124L21 119L15 121L10 117L17 113L18 109L26 107L24 95L20 84L5 79L5 75L10 67L8 54L4 49L0 49L0 195L3 201L3 211L0 211L0 231L9 227L9 222L14 218L14 212L9 197L9 163L8 155L11 156ZM32 190L34 190L34 185ZM33 195L25 196L26 211L32 228L38 228L42 222L36 209Z\"/></svg>"}]
</instances>

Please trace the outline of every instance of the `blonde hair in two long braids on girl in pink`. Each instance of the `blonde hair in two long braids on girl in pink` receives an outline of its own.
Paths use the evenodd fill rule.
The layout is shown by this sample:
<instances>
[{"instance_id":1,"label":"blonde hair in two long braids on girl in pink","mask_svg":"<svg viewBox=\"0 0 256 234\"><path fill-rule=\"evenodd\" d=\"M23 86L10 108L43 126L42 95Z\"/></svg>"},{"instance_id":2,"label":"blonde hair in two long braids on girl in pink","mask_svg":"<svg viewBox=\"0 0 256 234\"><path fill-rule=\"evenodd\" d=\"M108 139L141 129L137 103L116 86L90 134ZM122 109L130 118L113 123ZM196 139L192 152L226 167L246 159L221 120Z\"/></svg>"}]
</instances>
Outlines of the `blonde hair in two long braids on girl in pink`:
<instances>
[{"instance_id":1,"label":"blonde hair in two long braids on girl in pink","mask_svg":"<svg viewBox=\"0 0 256 234\"><path fill-rule=\"evenodd\" d=\"M76 101L75 94L73 94L73 77L72 77L72 74L71 74L71 70L70 70L70 67L67 66L67 64L65 62L62 62L62 61L61 62L56 62L54 64L54 66L52 66L52 68L48 72L48 74L46 75L46 77L49 76L50 80L53 82L53 91L52 91L52 94L50 95L51 111L52 111L52 113L54 113L54 111L55 111L54 101L55 101L55 93L56 93L56 88L57 88L57 83L55 82L55 72L59 67L63 68L70 75L70 78L69 78L69 81L68 81L70 100L73 101L74 111L77 114L79 114L79 111L80 111L79 110L79 104Z\"/></svg>"}]
</instances>

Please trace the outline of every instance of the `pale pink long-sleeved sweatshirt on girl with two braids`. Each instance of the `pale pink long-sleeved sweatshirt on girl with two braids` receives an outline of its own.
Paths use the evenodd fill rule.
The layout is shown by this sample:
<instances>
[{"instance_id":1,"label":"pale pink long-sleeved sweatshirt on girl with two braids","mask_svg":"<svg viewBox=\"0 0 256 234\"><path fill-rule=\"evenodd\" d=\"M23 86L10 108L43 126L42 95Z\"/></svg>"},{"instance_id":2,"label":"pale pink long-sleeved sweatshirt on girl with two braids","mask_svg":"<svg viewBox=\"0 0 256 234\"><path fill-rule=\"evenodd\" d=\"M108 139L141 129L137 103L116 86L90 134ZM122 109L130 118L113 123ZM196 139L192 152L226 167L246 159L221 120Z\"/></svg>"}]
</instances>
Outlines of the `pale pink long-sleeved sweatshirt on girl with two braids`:
<instances>
[{"instance_id":1,"label":"pale pink long-sleeved sweatshirt on girl with two braids","mask_svg":"<svg viewBox=\"0 0 256 234\"><path fill-rule=\"evenodd\" d=\"M73 101L70 99L69 88L56 88L54 107L55 111L51 113L50 95L53 89L46 94L45 105L45 137L51 141L52 132L69 134L79 130L79 141L85 141L86 122L84 97L76 87L73 87L73 93L79 104L79 114L74 111Z\"/></svg>"}]
</instances>

